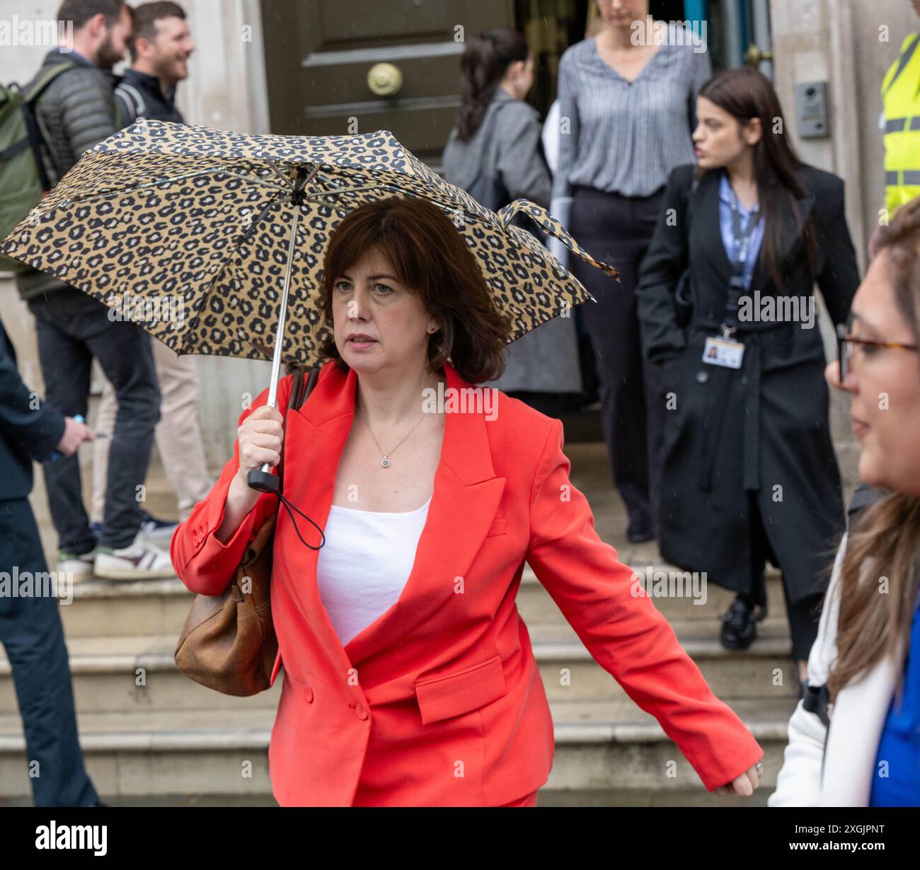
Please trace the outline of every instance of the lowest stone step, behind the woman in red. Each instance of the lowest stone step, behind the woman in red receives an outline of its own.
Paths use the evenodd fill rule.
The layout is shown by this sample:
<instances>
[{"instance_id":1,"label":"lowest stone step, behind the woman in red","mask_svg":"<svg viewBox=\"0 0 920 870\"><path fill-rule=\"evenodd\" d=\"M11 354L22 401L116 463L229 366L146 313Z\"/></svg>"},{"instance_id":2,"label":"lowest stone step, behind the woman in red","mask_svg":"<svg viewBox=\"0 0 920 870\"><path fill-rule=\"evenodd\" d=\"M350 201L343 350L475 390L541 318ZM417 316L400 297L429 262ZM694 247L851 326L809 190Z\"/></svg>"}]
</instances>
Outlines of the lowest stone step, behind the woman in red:
<instances>
[{"instance_id":1,"label":"lowest stone step, behind the woman in red","mask_svg":"<svg viewBox=\"0 0 920 870\"><path fill-rule=\"evenodd\" d=\"M772 790L787 741L791 699L732 704L765 751L762 790ZM553 702L556 750L547 791L635 792L705 798L707 792L650 715L616 702ZM623 715L628 718L622 718ZM208 794L270 796L268 744L274 711L151 710L144 716L83 713L87 769L106 797ZM0 715L0 798L29 795L25 743L16 714Z\"/></svg>"}]
</instances>

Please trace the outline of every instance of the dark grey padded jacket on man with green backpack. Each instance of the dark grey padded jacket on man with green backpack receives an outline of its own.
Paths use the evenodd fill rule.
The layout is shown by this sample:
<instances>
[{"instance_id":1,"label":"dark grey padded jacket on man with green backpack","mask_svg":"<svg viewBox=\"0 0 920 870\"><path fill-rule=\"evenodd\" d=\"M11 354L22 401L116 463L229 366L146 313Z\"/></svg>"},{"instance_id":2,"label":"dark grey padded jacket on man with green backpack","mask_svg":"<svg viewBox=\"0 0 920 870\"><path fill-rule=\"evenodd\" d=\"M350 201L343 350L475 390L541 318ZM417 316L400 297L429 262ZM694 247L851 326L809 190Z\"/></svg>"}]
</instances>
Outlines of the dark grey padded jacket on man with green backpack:
<instances>
[{"instance_id":1,"label":"dark grey padded jacket on man with green backpack","mask_svg":"<svg viewBox=\"0 0 920 870\"><path fill-rule=\"evenodd\" d=\"M93 66L79 54L56 48L45 55L41 68L56 63L78 65L54 79L36 104L52 185L86 150L116 132L114 93L118 81L117 76ZM35 269L17 276L19 295L27 300L68 286Z\"/></svg>"}]
</instances>

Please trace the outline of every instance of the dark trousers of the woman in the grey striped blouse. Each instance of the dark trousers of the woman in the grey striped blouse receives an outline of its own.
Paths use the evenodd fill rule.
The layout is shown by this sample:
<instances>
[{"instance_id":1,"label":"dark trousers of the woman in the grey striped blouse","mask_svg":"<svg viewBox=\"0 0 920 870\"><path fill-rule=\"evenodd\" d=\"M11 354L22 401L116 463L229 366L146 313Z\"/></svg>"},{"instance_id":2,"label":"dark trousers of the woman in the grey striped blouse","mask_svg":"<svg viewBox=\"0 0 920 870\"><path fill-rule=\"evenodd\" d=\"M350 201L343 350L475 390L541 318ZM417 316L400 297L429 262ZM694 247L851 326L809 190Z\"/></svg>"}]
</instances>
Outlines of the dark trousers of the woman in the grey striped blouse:
<instances>
[{"instance_id":1,"label":"dark trousers of the woman in the grey striped blouse","mask_svg":"<svg viewBox=\"0 0 920 870\"><path fill-rule=\"evenodd\" d=\"M642 353L637 314L638 267L649 247L663 191L625 197L575 187L569 232L593 258L619 270L620 280L581 258L572 274L597 300L581 305L594 350L604 440L630 528L658 533L664 405L654 366Z\"/></svg>"}]
</instances>

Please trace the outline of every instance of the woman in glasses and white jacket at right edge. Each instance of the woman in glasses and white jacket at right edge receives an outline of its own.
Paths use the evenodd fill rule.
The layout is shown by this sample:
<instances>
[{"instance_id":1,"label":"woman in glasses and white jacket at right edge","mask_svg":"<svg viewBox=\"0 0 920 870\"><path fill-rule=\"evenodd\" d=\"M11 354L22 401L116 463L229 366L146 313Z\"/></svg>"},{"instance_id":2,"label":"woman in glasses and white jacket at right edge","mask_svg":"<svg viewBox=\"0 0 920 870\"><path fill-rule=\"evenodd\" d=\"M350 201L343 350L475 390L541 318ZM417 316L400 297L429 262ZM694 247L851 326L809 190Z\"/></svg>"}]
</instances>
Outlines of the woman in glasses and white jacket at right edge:
<instances>
[{"instance_id":1,"label":"woman in glasses and white jacket at right edge","mask_svg":"<svg viewBox=\"0 0 920 870\"><path fill-rule=\"evenodd\" d=\"M920 806L920 198L874 242L825 373L881 497L841 540L771 807Z\"/></svg>"}]
</instances>

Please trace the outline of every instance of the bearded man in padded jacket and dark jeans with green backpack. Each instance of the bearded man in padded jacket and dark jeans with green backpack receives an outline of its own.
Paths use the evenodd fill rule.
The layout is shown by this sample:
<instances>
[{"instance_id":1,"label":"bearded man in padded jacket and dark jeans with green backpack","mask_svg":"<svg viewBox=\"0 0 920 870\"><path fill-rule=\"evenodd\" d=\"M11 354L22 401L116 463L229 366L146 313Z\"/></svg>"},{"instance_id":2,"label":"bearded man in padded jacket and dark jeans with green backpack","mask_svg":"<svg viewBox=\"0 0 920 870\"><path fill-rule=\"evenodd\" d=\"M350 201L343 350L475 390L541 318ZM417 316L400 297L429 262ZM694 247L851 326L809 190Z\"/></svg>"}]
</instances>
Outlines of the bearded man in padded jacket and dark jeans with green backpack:
<instances>
[{"instance_id":1,"label":"bearded man in padded jacket and dark jeans with green backpack","mask_svg":"<svg viewBox=\"0 0 920 870\"><path fill-rule=\"evenodd\" d=\"M56 183L93 145L113 135L115 79L132 19L123 0L64 0L58 20L72 35L43 66L74 64L37 104L49 176ZM105 517L97 540L83 503L75 457L45 465L52 520L60 539L58 570L119 579L169 577L166 551L139 534L137 494L144 484L160 393L150 338L130 321L109 320L107 307L75 287L37 272L17 279L38 329L41 369L52 405L86 417L90 366L96 357L115 386L119 415L109 452Z\"/></svg>"}]
</instances>

